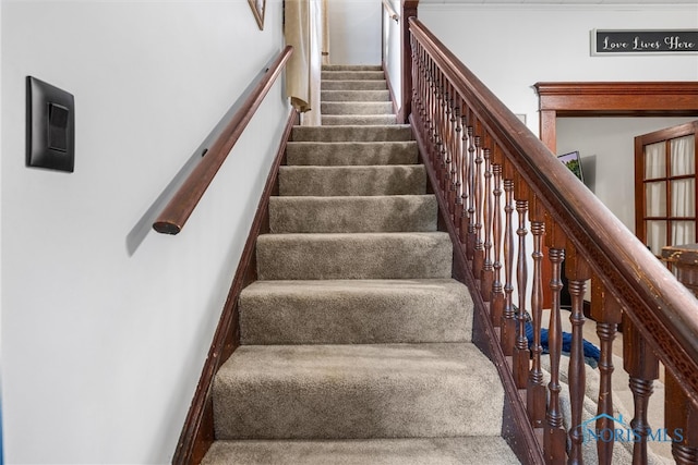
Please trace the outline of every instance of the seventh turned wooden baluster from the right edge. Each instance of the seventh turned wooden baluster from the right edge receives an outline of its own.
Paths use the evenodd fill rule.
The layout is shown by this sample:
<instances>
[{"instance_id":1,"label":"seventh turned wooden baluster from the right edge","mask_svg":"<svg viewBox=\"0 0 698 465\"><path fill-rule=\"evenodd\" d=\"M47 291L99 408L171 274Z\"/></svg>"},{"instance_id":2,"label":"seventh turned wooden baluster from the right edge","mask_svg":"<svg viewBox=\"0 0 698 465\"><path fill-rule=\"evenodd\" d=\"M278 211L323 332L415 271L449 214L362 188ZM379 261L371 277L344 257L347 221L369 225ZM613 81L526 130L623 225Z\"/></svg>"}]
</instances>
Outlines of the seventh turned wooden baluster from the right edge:
<instances>
[{"instance_id":1,"label":"seventh turned wooden baluster from the right edge","mask_svg":"<svg viewBox=\"0 0 698 465\"><path fill-rule=\"evenodd\" d=\"M526 262L526 213L528 211L528 186L517 174L515 179L516 211L519 217L519 228L516 234L519 236L518 256L516 260L516 282L519 295L519 309L517 315L516 344L514 345L514 358L512 360L514 382L518 389L525 389L528 380L530 351L526 339L526 289L528 284L528 265Z\"/></svg>"}]
</instances>

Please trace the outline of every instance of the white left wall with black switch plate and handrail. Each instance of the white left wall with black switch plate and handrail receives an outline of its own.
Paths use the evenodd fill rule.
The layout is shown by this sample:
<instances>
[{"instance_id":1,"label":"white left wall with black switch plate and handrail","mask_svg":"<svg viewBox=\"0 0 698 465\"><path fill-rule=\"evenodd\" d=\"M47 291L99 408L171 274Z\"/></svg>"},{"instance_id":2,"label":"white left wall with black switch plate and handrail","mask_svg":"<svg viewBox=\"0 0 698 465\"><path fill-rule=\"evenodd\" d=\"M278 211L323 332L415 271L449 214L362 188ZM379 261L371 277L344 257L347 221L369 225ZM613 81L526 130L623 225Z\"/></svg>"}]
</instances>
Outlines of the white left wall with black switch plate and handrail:
<instances>
[{"instance_id":1,"label":"white left wall with black switch plate and handrail","mask_svg":"<svg viewBox=\"0 0 698 465\"><path fill-rule=\"evenodd\" d=\"M282 48L236 1L2 2L8 463L168 463L289 107L272 89L178 236L147 212ZM254 44L254 47L250 47ZM72 174L24 164L25 76L71 91Z\"/></svg>"}]
</instances>

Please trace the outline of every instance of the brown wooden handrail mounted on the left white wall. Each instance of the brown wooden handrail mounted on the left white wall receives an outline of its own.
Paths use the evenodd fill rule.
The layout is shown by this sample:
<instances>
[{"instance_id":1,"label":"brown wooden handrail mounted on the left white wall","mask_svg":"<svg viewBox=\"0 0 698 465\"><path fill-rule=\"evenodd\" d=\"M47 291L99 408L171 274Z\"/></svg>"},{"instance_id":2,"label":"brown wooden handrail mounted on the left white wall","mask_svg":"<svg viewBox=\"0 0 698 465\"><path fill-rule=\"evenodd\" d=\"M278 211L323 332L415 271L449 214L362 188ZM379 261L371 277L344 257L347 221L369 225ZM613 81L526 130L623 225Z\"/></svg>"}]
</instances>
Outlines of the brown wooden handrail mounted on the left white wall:
<instances>
[{"instance_id":1,"label":"brown wooden handrail mounted on the left white wall","mask_svg":"<svg viewBox=\"0 0 698 465\"><path fill-rule=\"evenodd\" d=\"M264 100L264 97L284 70L292 52L293 48L287 46L269 68L265 70L264 75L252 89L240 110L230 115L222 132L205 152L205 157L192 170L153 223L155 231L164 234L178 234L184 228L184 223L194 211L198 200L201 200L204 192L210 185L224 161L226 161L228 154L248 126L262 100Z\"/></svg>"}]
</instances>

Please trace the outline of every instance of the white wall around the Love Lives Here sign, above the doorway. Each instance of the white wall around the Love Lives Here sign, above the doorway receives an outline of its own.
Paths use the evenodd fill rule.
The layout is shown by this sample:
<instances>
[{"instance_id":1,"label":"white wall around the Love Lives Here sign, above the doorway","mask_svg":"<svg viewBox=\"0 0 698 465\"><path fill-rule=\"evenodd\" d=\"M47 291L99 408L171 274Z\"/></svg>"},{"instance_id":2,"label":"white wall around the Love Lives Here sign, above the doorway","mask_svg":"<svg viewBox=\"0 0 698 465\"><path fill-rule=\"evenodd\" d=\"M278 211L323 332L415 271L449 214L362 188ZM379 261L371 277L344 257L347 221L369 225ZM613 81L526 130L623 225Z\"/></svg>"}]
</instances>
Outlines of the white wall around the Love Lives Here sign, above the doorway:
<instances>
[{"instance_id":1,"label":"white wall around the Love Lives Here sign, above the doorway","mask_svg":"<svg viewBox=\"0 0 698 465\"><path fill-rule=\"evenodd\" d=\"M698 79L696 54L590 54L594 28L698 28L696 4L420 3L419 19L535 134L537 82Z\"/></svg>"}]
</instances>

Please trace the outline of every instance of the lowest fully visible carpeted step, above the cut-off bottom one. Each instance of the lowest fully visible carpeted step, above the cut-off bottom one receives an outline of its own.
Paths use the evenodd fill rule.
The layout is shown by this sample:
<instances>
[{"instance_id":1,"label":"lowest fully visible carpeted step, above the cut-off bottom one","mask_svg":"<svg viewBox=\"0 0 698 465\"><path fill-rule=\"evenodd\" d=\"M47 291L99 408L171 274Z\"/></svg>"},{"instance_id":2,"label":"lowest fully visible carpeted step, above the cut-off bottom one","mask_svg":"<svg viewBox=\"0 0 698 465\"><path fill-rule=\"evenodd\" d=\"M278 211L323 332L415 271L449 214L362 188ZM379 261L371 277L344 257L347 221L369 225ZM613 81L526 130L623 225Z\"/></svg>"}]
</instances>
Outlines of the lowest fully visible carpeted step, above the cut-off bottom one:
<instances>
[{"instance_id":1,"label":"lowest fully visible carpeted step, above the cut-off bottom one","mask_svg":"<svg viewBox=\"0 0 698 465\"><path fill-rule=\"evenodd\" d=\"M214 383L217 439L496 436L502 402L471 343L243 345Z\"/></svg>"}]
</instances>

